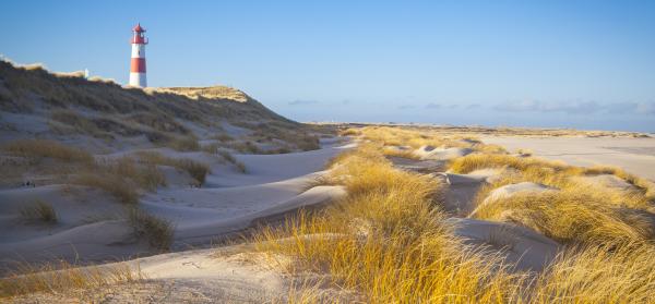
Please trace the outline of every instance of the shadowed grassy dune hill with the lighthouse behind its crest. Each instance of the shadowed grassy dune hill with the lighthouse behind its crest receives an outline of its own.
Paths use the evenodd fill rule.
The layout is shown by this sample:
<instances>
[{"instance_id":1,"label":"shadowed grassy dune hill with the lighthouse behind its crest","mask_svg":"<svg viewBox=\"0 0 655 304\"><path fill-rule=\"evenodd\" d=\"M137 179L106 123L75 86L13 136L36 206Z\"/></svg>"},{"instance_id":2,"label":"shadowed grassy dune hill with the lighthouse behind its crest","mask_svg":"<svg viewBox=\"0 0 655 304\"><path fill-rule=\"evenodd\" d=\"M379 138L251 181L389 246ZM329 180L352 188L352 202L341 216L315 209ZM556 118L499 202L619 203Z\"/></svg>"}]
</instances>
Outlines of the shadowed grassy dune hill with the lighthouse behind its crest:
<instances>
[{"instance_id":1,"label":"shadowed grassy dune hill with the lighthouse behind its crest","mask_svg":"<svg viewBox=\"0 0 655 304\"><path fill-rule=\"evenodd\" d=\"M0 61L0 143L37 137L94 153L150 146L287 153L318 148L315 131L230 87L127 88Z\"/></svg>"}]
</instances>

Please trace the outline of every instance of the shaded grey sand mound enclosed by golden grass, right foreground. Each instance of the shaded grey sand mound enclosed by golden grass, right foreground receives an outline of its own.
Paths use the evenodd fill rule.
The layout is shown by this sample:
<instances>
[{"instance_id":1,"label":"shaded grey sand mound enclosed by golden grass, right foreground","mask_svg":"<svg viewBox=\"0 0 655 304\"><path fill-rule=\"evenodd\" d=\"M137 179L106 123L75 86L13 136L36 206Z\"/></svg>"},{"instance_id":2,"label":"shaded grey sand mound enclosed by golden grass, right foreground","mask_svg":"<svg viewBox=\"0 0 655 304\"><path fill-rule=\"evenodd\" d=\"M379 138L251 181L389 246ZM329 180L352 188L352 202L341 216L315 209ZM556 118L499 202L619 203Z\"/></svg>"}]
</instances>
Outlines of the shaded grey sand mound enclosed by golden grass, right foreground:
<instances>
[{"instance_id":1,"label":"shaded grey sand mound enclosed by golden grass, right foreground","mask_svg":"<svg viewBox=\"0 0 655 304\"><path fill-rule=\"evenodd\" d=\"M500 252L508 263L516 263L515 270L540 271L557 255L560 245L524 227L511 223L475 219L448 219L455 227L455 234L474 245Z\"/></svg>"}]
</instances>

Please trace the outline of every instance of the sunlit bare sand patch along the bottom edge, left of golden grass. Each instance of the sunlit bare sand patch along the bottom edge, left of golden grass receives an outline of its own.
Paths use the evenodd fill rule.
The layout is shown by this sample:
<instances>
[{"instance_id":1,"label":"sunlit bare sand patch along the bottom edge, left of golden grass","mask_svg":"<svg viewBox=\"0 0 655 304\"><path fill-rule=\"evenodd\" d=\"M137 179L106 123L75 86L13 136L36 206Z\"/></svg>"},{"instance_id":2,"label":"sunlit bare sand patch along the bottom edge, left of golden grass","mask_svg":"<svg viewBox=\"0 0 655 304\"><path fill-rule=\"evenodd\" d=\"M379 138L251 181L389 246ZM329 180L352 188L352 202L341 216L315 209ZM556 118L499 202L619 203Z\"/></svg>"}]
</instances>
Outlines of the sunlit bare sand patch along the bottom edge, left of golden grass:
<instances>
[{"instance_id":1,"label":"sunlit bare sand patch along the bottom edge, left of golden grass","mask_svg":"<svg viewBox=\"0 0 655 304\"><path fill-rule=\"evenodd\" d=\"M349 302L355 293L341 290L318 273L290 275L293 259L252 252L245 246L189 251L127 262L147 278L66 293L34 293L9 303L287 303ZM309 287L309 293L300 292Z\"/></svg>"}]
</instances>

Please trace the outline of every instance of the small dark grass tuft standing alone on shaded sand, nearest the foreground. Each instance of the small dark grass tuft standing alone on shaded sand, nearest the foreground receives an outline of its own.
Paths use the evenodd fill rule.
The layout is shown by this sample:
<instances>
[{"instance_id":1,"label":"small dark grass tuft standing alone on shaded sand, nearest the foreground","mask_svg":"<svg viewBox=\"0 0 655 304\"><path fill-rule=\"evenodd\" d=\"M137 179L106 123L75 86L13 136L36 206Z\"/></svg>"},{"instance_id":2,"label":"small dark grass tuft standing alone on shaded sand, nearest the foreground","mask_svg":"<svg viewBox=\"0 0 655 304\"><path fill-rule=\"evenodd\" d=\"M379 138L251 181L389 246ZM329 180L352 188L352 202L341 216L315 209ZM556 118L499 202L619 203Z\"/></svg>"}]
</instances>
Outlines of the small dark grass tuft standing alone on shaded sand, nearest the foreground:
<instances>
[{"instance_id":1,"label":"small dark grass tuft standing alone on shaded sand, nearest the foreground","mask_svg":"<svg viewBox=\"0 0 655 304\"><path fill-rule=\"evenodd\" d=\"M128 210L128 220L134 233L147 240L151 247L158 251L168 251L172 244L175 228L172 222L163 219L139 208Z\"/></svg>"}]
</instances>

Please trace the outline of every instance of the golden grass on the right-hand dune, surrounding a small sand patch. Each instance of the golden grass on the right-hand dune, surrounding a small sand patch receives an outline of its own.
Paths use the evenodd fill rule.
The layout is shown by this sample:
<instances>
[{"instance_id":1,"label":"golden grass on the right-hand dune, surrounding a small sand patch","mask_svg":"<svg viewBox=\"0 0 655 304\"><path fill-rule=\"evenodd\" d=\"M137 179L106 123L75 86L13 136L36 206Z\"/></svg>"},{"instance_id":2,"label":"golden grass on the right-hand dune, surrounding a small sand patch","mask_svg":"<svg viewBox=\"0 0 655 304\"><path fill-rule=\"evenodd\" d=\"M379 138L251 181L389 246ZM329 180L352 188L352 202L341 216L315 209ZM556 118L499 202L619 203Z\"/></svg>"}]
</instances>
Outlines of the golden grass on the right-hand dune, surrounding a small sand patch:
<instances>
[{"instance_id":1,"label":"golden grass on the right-hand dune, surrounding a small sand patch","mask_svg":"<svg viewBox=\"0 0 655 304\"><path fill-rule=\"evenodd\" d=\"M519 223L563 243L619 244L655 236L654 206L646 195L652 190L634 184L630 190L611 189L580 181L597 174L620 175L622 170L484 154L461 157L450 163L456 173L487 168L498 168L501 172L478 191L475 218ZM544 184L555 191L522 192L488 202L495 189L521 182Z\"/></svg>"}]
</instances>

